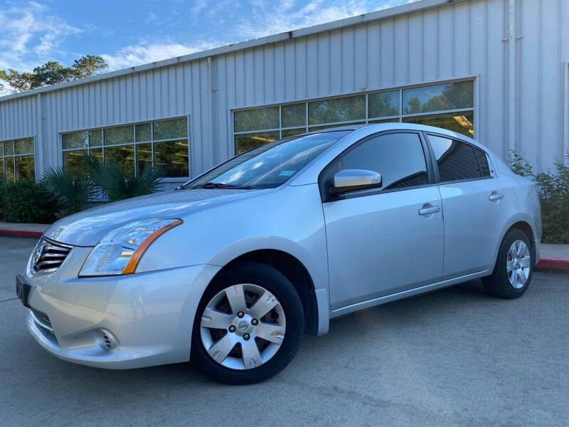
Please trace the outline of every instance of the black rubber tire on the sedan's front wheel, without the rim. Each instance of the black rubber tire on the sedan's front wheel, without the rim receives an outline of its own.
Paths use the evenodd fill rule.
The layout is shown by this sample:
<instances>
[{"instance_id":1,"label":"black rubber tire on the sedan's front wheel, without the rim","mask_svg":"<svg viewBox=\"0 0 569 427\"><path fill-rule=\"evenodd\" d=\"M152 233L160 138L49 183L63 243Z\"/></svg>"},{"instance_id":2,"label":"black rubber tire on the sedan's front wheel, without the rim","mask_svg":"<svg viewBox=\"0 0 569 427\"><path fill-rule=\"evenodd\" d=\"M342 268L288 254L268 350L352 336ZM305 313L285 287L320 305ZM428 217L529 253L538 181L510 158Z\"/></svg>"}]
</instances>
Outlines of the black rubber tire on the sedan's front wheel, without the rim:
<instances>
[{"instance_id":1,"label":"black rubber tire on the sedan's front wheel, without the rim","mask_svg":"<svg viewBox=\"0 0 569 427\"><path fill-rule=\"evenodd\" d=\"M201 317L208 302L225 288L240 283L258 285L271 292L279 300L286 318L285 337L274 356L259 367L230 369L211 358L201 341ZM222 271L204 292L193 322L191 361L211 379L225 384L254 384L278 374L292 361L304 333L302 302L289 280L270 265L246 262L230 270Z\"/></svg>"}]
</instances>

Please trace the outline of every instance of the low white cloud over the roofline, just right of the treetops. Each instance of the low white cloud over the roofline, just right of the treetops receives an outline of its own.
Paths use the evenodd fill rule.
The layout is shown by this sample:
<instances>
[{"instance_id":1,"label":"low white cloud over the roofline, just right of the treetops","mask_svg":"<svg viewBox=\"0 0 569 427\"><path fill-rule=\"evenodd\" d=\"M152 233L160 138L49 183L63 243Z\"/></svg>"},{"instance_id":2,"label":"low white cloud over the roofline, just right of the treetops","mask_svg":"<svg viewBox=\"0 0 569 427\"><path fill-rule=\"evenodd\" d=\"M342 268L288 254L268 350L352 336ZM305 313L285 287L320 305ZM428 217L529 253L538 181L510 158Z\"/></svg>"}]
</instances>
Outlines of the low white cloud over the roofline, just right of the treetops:
<instances>
[{"instance_id":1,"label":"low white cloud over the roofline, just right of the treetops","mask_svg":"<svg viewBox=\"0 0 569 427\"><path fill-rule=\"evenodd\" d=\"M134 65L153 63L163 59L175 58L176 56L206 51L214 48L215 43L198 42L193 44L182 43L144 43L127 46L113 54L102 54L102 58L109 64L110 70L129 68Z\"/></svg>"}]
</instances>

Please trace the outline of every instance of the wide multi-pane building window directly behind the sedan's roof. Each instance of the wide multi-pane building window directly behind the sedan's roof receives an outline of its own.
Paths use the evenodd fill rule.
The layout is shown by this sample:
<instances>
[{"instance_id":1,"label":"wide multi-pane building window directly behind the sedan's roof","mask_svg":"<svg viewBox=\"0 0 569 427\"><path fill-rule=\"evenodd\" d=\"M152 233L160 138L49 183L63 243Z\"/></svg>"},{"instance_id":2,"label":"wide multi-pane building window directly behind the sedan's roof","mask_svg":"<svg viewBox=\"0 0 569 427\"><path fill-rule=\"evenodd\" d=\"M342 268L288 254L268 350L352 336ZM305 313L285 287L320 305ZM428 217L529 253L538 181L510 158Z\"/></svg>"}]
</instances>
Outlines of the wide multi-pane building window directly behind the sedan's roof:
<instances>
[{"instance_id":1,"label":"wide multi-pane building window directly behind the sedan's roof","mask_svg":"<svg viewBox=\"0 0 569 427\"><path fill-rule=\"evenodd\" d=\"M474 80L238 110L233 118L235 154L304 132L366 123L419 123L474 137Z\"/></svg>"}]
</instances>

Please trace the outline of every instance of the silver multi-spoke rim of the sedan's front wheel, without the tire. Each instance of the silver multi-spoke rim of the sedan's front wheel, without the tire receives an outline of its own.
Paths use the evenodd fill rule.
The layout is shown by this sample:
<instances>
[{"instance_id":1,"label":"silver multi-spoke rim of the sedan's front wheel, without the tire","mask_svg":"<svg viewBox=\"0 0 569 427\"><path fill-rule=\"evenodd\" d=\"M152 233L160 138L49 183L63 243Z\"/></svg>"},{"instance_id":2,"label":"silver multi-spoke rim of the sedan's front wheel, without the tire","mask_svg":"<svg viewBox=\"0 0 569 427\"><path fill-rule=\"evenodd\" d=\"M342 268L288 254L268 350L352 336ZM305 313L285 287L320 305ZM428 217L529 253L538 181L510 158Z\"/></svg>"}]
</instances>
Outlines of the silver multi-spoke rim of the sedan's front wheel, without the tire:
<instances>
[{"instance_id":1,"label":"silver multi-spoke rim of the sedan's front wheel, without the tire","mask_svg":"<svg viewBox=\"0 0 569 427\"><path fill-rule=\"evenodd\" d=\"M252 369L280 348L286 319L275 295L243 283L218 292L203 310L201 342L210 357L230 369Z\"/></svg>"}]
</instances>

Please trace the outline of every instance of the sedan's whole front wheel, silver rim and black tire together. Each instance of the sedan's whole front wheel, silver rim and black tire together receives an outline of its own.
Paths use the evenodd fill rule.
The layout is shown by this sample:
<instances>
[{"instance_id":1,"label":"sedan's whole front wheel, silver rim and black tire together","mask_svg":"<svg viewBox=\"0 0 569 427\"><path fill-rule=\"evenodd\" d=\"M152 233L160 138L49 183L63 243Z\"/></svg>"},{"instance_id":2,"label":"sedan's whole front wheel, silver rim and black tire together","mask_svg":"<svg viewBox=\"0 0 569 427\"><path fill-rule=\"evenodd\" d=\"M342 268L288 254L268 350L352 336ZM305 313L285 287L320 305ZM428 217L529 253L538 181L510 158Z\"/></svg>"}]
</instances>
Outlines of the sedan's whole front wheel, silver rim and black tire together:
<instances>
[{"instance_id":1,"label":"sedan's whole front wheel, silver rim and black tire together","mask_svg":"<svg viewBox=\"0 0 569 427\"><path fill-rule=\"evenodd\" d=\"M243 263L204 293L193 325L192 359L227 384L274 376L292 360L304 331L297 292L275 268Z\"/></svg>"}]
</instances>

